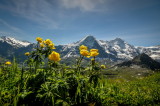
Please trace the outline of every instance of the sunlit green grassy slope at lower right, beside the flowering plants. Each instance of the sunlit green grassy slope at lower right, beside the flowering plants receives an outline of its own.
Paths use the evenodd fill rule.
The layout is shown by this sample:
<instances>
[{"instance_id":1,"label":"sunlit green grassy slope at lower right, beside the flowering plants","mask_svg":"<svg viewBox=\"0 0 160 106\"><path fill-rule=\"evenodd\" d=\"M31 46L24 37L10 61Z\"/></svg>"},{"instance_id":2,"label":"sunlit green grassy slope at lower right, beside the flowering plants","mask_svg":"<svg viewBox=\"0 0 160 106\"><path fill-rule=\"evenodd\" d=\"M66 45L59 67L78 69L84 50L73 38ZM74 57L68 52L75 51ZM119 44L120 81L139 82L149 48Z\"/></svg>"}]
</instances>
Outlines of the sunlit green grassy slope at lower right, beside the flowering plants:
<instances>
[{"instance_id":1,"label":"sunlit green grassy slope at lower right, beside the flowering plants","mask_svg":"<svg viewBox=\"0 0 160 106\"><path fill-rule=\"evenodd\" d=\"M106 105L160 105L160 73L132 81L109 79Z\"/></svg>"}]
</instances>

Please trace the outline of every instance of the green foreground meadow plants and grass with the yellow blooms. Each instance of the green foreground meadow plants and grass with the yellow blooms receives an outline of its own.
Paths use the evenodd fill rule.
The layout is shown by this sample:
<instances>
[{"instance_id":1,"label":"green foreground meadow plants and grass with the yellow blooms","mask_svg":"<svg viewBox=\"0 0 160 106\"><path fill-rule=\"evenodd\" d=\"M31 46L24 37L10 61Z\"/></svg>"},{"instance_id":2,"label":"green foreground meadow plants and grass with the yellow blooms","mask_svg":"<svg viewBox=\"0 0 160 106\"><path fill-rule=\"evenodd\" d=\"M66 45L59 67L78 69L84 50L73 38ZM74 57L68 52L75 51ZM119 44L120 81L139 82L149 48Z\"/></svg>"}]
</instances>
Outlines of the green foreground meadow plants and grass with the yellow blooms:
<instances>
[{"instance_id":1,"label":"green foreground meadow plants and grass with the yellow blooms","mask_svg":"<svg viewBox=\"0 0 160 106\"><path fill-rule=\"evenodd\" d=\"M160 105L160 73L132 81L108 79L105 66L96 62L97 49L81 46L81 56L69 67L58 63L60 54L52 51L50 40L37 41L23 65L13 60L1 66L0 105ZM83 58L91 59L86 67Z\"/></svg>"}]
</instances>

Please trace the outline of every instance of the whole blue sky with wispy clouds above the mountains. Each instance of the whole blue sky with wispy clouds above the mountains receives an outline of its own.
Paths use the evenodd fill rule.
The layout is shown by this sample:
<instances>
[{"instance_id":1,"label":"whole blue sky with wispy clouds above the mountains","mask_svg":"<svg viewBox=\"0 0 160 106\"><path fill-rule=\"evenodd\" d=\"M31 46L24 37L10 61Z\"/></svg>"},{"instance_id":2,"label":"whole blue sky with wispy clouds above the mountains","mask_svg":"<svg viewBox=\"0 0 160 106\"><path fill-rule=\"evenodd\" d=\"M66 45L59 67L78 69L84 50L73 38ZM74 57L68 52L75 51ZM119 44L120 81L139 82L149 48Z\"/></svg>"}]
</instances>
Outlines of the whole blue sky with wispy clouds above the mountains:
<instances>
[{"instance_id":1,"label":"whole blue sky with wispy clouds above the mountains","mask_svg":"<svg viewBox=\"0 0 160 106\"><path fill-rule=\"evenodd\" d=\"M58 44L86 35L160 45L160 0L0 0L0 36Z\"/></svg>"}]
</instances>

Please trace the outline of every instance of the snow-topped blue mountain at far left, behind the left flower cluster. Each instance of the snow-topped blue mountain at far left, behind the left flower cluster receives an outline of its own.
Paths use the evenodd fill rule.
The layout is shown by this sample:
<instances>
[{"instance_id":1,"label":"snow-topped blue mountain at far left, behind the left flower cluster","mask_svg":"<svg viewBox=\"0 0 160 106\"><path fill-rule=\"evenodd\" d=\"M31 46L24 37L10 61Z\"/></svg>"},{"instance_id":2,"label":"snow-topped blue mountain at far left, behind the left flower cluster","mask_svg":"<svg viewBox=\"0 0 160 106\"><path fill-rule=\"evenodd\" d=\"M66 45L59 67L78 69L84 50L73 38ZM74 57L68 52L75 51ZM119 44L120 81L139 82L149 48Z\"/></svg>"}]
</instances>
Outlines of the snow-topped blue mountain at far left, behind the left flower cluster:
<instances>
[{"instance_id":1,"label":"snow-topped blue mountain at far left, behind the left flower cluster","mask_svg":"<svg viewBox=\"0 0 160 106\"><path fill-rule=\"evenodd\" d=\"M34 44L27 41L20 41L12 37L0 37L0 57L23 61L26 59L25 52L31 51Z\"/></svg>"}]
</instances>

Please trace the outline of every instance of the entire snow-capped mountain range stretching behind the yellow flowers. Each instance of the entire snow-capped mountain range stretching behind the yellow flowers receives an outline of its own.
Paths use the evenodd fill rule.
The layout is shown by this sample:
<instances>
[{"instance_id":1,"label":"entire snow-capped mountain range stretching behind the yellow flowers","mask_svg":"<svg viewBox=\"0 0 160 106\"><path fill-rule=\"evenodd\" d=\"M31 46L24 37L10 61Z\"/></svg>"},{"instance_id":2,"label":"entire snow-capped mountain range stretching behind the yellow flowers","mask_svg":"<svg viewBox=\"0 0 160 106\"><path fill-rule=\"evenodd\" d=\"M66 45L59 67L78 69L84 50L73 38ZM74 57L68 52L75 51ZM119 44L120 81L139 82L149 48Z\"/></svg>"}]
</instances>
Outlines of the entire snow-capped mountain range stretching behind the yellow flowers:
<instances>
[{"instance_id":1,"label":"entire snow-capped mountain range stretching behind the yellow flowers","mask_svg":"<svg viewBox=\"0 0 160 106\"><path fill-rule=\"evenodd\" d=\"M95 48L99 50L98 59L109 59L111 61L131 60L135 56L146 53L152 59L160 61L160 46L135 47L121 38L114 40L97 40L94 36L86 36L85 38L67 45L57 45L56 51L61 54L62 58L70 58L79 56L79 46L85 45L89 49ZM13 56L20 61L24 60L25 52L31 51L35 44L28 41L20 41L12 37L0 37L0 57L12 59Z\"/></svg>"}]
</instances>

